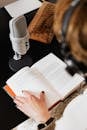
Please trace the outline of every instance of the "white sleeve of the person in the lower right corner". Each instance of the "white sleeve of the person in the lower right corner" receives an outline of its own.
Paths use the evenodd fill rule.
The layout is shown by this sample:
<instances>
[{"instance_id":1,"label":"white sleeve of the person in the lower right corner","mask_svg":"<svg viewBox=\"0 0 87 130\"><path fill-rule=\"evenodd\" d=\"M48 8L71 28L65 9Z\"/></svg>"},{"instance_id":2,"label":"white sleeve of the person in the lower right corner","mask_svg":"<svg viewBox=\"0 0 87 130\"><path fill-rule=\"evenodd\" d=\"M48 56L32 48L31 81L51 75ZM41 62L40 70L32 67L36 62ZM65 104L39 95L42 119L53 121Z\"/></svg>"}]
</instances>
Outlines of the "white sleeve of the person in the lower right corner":
<instances>
[{"instance_id":1,"label":"white sleeve of the person in the lower right corner","mask_svg":"<svg viewBox=\"0 0 87 130\"><path fill-rule=\"evenodd\" d=\"M77 96L68 104L55 130L87 130L87 94Z\"/></svg>"}]
</instances>

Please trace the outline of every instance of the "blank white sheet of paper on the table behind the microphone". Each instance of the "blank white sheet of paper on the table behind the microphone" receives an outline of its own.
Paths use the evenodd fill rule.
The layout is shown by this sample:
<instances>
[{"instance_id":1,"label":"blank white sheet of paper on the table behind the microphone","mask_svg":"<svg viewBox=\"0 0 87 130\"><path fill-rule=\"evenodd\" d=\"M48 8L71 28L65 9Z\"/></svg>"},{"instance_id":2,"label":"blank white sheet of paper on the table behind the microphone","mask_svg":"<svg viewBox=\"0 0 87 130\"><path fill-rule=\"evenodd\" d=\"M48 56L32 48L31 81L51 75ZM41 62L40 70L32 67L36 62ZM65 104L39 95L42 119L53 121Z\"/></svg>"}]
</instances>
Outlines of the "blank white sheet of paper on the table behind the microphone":
<instances>
[{"instance_id":1,"label":"blank white sheet of paper on the table behind the microphone","mask_svg":"<svg viewBox=\"0 0 87 130\"><path fill-rule=\"evenodd\" d=\"M18 17L38 9L41 5L42 3L39 0L17 0L14 3L5 6L5 9L11 17Z\"/></svg>"}]
</instances>

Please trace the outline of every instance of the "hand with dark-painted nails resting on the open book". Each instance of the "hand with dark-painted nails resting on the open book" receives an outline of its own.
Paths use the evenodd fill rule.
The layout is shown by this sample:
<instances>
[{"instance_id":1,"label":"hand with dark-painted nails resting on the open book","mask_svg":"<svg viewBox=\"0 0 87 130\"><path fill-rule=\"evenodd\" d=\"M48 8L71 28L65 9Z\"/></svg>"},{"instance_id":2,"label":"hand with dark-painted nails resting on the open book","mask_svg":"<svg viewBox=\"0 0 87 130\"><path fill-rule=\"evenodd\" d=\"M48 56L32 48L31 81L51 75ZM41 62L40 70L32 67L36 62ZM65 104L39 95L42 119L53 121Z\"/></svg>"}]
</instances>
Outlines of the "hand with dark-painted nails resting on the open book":
<instances>
[{"instance_id":1,"label":"hand with dark-painted nails resting on the open book","mask_svg":"<svg viewBox=\"0 0 87 130\"><path fill-rule=\"evenodd\" d=\"M23 91L23 94L23 97L14 98L17 108L38 123L46 122L50 118L50 113L46 105L45 93L42 91L39 98L29 91Z\"/></svg>"}]
</instances>

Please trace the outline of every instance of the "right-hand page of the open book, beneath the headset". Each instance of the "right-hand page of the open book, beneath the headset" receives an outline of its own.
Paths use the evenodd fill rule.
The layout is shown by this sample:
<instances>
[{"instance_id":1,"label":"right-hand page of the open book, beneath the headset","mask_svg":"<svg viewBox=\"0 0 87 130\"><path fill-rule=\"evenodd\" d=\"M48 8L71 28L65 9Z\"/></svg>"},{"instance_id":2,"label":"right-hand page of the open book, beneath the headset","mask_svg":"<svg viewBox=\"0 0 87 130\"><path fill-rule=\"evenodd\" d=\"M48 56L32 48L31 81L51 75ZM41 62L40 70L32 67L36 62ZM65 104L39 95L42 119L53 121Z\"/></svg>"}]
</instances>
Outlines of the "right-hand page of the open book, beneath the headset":
<instances>
[{"instance_id":1,"label":"right-hand page of the open book, beneath the headset","mask_svg":"<svg viewBox=\"0 0 87 130\"><path fill-rule=\"evenodd\" d=\"M74 91L84 80L79 74L71 76L66 71L66 64L52 53L34 64L32 68L36 68L43 74L54 89L59 92L62 99Z\"/></svg>"}]
</instances>

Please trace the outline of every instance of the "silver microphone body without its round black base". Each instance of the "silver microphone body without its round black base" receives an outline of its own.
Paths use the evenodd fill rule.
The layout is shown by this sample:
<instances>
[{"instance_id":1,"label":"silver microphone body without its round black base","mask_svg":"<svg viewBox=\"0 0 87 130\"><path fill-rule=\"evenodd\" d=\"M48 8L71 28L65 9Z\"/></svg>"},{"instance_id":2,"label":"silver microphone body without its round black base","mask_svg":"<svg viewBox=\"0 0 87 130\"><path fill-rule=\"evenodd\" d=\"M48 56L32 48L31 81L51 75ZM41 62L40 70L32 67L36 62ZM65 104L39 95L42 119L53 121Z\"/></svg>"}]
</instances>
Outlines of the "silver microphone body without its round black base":
<instances>
[{"instance_id":1,"label":"silver microphone body without its round black base","mask_svg":"<svg viewBox=\"0 0 87 130\"><path fill-rule=\"evenodd\" d=\"M9 29L12 48L15 52L13 58L15 60L19 60L21 59L21 56L25 55L30 48L25 16L12 18L9 22Z\"/></svg>"}]
</instances>

